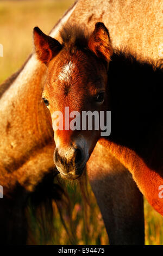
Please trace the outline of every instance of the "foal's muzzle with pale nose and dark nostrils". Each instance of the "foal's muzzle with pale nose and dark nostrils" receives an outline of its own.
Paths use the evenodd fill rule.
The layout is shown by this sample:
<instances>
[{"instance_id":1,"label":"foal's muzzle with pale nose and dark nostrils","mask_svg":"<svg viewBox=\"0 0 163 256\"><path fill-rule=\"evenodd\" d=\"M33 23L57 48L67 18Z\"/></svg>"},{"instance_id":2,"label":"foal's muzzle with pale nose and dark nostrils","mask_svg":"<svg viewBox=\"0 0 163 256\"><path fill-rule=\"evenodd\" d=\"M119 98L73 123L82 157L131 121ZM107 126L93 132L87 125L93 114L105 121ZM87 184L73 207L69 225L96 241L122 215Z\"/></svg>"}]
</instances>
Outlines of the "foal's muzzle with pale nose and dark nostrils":
<instances>
[{"instance_id":1,"label":"foal's muzzle with pale nose and dark nostrils","mask_svg":"<svg viewBox=\"0 0 163 256\"><path fill-rule=\"evenodd\" d=\"M55 148L54 163L64 179L78 179L83 174L86 157L81 148Z\"/></svg>"}]
</instances>

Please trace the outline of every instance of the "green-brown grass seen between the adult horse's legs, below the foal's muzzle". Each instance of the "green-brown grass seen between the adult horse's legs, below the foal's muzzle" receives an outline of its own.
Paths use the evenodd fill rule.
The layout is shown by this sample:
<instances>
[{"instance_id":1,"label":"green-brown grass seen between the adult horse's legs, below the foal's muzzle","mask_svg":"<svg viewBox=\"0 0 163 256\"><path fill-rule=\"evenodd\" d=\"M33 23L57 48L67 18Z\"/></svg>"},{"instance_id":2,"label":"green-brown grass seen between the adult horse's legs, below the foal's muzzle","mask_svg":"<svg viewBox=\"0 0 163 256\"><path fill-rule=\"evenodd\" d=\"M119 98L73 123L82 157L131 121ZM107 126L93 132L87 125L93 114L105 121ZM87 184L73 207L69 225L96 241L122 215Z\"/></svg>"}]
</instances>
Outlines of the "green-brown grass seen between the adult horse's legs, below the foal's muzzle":
<instances>
[{"instance_id":1,"label":"green-brown grass seen between the adult horse's legs, below the foal's muzzle","mask_svg":"<svg viewBox=\"0 0 163 256\"><path fill-rule=\"evenodd\" d=\"M64 181L62 185L65 187ZM102 215L96 204L96 199L91 191L91 187L89 186L91 207L87 206L87 225L85 223L83 199L78 182L70 182L70 184L66 185L66 190L70 196L73 209L72 225L68 222L66 211L64 213L64 220L66 220L68 230L70 230L71 225L72 233L74 234L73 242L71 243L64 225L61 222L56 205L54 204L54 232L49 239L47 235L44 235L45 231L48 233L48 227L44 227L43 229L42 225L40 225L40 221L38 219L36 221L32 209L30 207L28 208L28 222L31 227L29 233L30 240L28 240L28 243L35 245L108 245L108 235L106 234ZM74 195L76 196L74 197ZM39 215L37 215L37 217L38 216Z\"/></svg>"}]
</instances>

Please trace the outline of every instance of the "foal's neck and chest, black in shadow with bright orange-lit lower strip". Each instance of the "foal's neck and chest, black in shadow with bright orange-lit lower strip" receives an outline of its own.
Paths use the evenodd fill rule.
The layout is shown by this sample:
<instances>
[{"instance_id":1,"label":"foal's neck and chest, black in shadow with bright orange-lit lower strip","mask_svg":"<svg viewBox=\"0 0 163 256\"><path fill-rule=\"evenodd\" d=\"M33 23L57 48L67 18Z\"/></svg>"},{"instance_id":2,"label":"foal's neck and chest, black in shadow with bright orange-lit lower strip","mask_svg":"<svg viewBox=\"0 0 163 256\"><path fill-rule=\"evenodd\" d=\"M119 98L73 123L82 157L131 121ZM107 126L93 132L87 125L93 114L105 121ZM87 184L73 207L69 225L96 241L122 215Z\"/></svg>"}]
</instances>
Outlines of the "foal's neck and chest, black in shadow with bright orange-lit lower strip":
<instances>
[{"instance_id":1,"label":"foal's neck and chest, black in shadow with bright orange-lit lower strip","mask_svg":"<svg viewBox=\"0 0 163 256\"><path fill-rule=\"evenodd\" d=\"M128 168L148 202L163 215L161 81L161 66L154 69L116 52L108 72L111 135L99 143Z\"/></svg>"}]
</instances>

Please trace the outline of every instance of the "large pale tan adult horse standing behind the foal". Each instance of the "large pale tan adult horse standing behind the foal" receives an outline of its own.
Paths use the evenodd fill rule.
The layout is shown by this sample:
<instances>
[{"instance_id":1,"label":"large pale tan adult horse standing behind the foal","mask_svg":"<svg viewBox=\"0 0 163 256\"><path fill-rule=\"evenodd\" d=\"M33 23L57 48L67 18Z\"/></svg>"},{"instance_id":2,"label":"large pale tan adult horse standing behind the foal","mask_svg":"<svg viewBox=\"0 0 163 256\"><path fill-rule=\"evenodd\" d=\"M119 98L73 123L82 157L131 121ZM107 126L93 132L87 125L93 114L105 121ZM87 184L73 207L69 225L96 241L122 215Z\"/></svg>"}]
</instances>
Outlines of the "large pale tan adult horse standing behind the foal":
<instances>
[{"instance_id":1,"label":"large pale tan adult horse standing behind the foal","mask_svg":"<svg viewBox=\"0 0 163 256\"><path fill-rule=\"evenodd\" d=\"M142 1L141 7L136 1L125 4L103 1L98 9L97 5L97 1L77 1L51 35L59 39L58 31L68 20L86 23L90 29L93 29L95 21L105 21L114 46L130 45L140 56L157 59L155 41L161 36L156 31L161 9L159 1ZM146 18L151 20L154 29L147 26ZM153 31L155 36L149 40ZM43 175L53 168L51 118L40 102L45 78L45 66L31 56L20 71L1 85L1 185L5 194L16 187L17 182L25 191L33 191ZM97 144L95 150L98 151L99 147ZM109 162L101 163L100 157L105 151L100 148L96 157L95 150L91 162L88 162L91 167L89 177L111 244L143 243L143 202L139 190L120 162L110 155Z\"/></svg>"}]
</instances>

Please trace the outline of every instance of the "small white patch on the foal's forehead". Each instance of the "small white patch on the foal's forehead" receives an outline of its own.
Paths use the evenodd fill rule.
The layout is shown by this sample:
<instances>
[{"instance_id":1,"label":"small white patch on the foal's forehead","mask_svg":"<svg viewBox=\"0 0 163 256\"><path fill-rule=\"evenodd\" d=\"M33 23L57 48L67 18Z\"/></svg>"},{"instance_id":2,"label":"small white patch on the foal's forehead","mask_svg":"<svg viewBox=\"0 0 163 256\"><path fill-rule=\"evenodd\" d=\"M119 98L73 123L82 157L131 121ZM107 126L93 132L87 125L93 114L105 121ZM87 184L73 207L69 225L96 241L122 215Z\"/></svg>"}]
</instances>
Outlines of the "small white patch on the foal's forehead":
<instances>
[{"instance_id":1,"label":"small white patch on the foal's forehead","mask_svg":"<svg viewBox=\"0 0 163 256\"><path fill-rule=\"evenodd\" d=\"M62 66L62 70L58 76L58 79L65 82L70 81L74 68L75 65L72 62Z\"/></svg>"}]
</instances>

